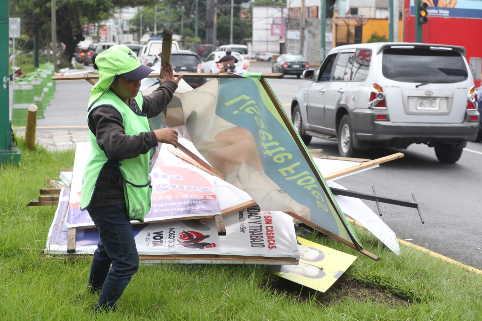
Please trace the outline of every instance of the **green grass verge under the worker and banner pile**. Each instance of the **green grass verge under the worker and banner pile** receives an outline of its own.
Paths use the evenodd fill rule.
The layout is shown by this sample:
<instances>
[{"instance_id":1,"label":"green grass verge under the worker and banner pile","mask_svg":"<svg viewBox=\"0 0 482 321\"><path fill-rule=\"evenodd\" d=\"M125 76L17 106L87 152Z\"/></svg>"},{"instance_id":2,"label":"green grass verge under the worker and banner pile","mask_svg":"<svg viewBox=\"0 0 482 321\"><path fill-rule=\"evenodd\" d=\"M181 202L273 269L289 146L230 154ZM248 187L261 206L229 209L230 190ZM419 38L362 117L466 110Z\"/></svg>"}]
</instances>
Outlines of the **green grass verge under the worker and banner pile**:
<instances>
[{"instance_id":1,"label":"green grass verge under the worker and banner pile","mask_svg":"<svg viewBox=\"0 0 482 321\"><path fill-rule=\"evenodd\" d=\"M73 165L74 151L22 150L0 165L0 320L482 320L482 276L401 245L392 254L355 226L380 261L318 235L305 235L358 259L326 293L304 289L262 266L141 265L117 311L95 316L87 291L90 259L47 259L55 208L26 207L46 179ZM351 291L347 289L350 288Z\"/></svg>"}]
</instances>

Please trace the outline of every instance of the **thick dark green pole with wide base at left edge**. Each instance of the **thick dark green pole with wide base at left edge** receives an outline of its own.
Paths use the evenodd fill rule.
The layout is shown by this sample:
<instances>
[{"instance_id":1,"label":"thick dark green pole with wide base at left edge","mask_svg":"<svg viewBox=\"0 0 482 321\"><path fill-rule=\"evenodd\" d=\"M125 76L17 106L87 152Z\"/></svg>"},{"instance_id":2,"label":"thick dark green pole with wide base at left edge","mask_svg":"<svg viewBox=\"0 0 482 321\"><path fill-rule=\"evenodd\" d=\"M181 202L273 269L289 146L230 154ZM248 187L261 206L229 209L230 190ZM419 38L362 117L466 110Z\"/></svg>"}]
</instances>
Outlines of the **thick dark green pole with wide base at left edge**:
<instances>
[{"instance_id":1,"label":"thick dark green pole with wide base at left edge","mask_svg":"<svg viewBox=\"0 0 482 321\"><path fill-rule=\"evenodd\" d=\"M13 147L12 123L10 122L10 101L8 81L8 50L9 50L9 1L0 1L0 59L5 61L0 64L0 79L5 79L3 86L0 86L0 163L20 161L20 149ZM20 30L19 30L20 32ZM13 39L15 39L13 37Z\"/></svg>"}]
</instances>

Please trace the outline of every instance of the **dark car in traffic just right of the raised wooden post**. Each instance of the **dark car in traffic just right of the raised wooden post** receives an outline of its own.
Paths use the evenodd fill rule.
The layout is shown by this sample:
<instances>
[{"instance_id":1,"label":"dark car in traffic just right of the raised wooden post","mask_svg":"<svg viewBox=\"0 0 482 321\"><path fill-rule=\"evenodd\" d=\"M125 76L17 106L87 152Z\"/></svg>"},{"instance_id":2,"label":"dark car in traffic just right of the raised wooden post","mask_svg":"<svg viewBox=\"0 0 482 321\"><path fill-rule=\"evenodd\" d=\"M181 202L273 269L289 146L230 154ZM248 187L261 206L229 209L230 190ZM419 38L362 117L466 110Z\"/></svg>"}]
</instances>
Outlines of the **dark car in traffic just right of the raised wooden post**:
<instances>
[{"instance_id":1,"label":"dark car in traffic just right of the raised wooden post","mask_svg":"<svg viewBox=\"0 0 482 321\"><path fill-rule=\"evenodd\" d=\"M161 54L159 54L161 56ZM178 50L171 53L171 64L174 72L204 72L199 55L189 50ZM205 78L183 78L192 88L201 86Z\"/></svg>"}]
</instances>

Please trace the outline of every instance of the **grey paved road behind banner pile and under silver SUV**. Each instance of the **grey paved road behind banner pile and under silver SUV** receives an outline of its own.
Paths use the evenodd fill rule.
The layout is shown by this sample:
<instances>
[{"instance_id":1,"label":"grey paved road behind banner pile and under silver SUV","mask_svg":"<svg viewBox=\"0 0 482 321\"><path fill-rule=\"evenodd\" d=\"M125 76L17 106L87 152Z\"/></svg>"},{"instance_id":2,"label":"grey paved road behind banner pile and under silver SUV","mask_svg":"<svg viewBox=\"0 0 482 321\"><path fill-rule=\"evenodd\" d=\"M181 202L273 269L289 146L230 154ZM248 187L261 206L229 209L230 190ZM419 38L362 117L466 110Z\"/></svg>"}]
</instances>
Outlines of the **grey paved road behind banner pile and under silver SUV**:
<instances>
[{"instance_id":1,"label":"grey paved road behind banner pile and under silver SUV","mask_svg":"<svg viewBox=\"0 0 482 321\"><path fill-rule=\"evenodd\" d=\"M270 65L251 63L250 71L270 72ZM287 108L296 88L305 81L293 76L269 80ZM55 150L73 148L75 142L88 140L85 106L90 88L86 81L57 83L46 117L38 120L40 143ZM322 148L324 155L338 155L335 141L314 138L309 148ZM337 182L364 193L371 193L374 186L379 195L406 201L411 201L414 193L425 219L423 225L415 209L381 204L382 219L397 237L481 269L482 144L469 143L456 164L440 163L433 148L425 145L412 145L406 150L378 148L363 156L375 159L400 151L404 158ZM366 204L377 213L375 202Z\"/></svg>"}]
</instances>

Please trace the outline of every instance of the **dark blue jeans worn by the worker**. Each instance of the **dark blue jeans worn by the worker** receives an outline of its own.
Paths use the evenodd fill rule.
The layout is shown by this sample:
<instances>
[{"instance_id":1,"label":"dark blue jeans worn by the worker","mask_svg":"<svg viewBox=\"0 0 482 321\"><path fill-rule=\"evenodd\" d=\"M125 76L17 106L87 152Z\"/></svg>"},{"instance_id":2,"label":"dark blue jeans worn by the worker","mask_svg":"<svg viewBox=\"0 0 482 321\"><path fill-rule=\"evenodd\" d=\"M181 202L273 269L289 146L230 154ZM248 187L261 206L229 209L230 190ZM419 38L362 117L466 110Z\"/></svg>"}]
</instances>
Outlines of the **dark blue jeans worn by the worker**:
<instances>
[{"instance_id":1,"label":"dark blue jeans worn by the worker","mask_svg":"<svg viewBox=\"0 0 482 321\"><path fill-rule=\"evenodd\" d=\"M101 290L95 310L115 310L117 300L139 268L131 222L125 204L95 206L88 212L100 236L89 276L91 291Z\"/></svg>"}]
</instances>

